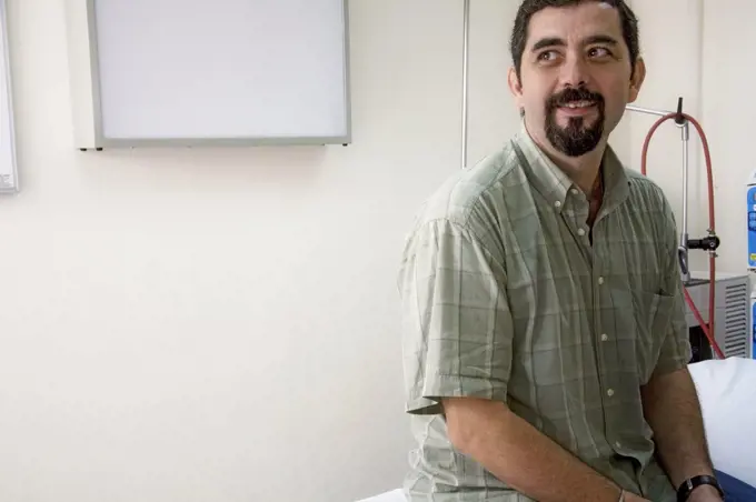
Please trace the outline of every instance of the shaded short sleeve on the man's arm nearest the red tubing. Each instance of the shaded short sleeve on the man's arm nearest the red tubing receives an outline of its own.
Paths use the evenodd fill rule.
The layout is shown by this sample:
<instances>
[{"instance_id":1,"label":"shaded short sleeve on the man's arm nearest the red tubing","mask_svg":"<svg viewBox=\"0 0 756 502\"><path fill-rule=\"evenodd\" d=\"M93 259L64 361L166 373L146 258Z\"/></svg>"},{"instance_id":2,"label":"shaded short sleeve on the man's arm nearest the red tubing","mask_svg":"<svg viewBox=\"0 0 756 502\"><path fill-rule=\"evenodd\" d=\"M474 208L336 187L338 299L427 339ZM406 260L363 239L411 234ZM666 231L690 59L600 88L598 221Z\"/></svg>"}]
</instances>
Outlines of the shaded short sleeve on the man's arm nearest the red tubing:
<instances>
[{"instance_id":1,"label":"shaded short sleeve on the man's arm nearest the red tubing","mask_svg":"<svg viewBox=\"0 0 756 502\"><path fill-rule=\"evenodd\" d=\"M688 323L686 320L686 303L683 292L683 279L680 275L679 258L677 254L677 224L666 198L663 197L664 218L664 242L666 268L662 282L662 293L670 297L669 322L665 332L658 333L663 337L659 359L654 369L653 376L670 373L686 368L693 358Z\"/></svg>"}]
</instances>

